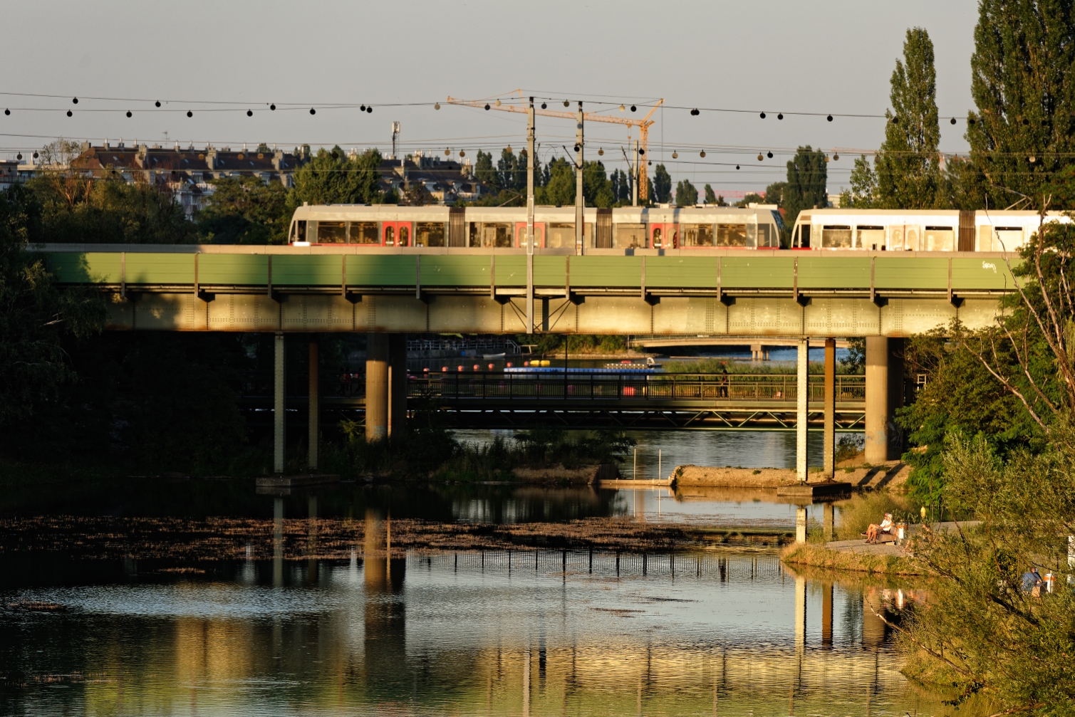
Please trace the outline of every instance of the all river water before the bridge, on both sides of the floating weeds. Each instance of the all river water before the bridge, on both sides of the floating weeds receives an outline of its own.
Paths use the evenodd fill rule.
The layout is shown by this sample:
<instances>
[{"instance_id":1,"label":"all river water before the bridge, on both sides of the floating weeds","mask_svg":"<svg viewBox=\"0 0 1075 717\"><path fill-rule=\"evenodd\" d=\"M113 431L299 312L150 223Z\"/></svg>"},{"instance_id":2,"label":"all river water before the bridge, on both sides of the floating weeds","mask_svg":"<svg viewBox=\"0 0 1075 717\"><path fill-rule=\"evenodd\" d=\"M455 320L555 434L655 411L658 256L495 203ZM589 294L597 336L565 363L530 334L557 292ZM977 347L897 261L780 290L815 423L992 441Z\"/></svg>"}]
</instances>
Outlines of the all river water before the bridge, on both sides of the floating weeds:
<instances>
[{"instance_id":1,"label":"all river water before the bridge, on both sides of the floating weeds","mask_svg":"<svg viewBox=\"0 0 1075 717\"><path fill-rule=\"evenodd\" d=\"M112 526L230 516L267 535L273 516L316 535L318 520L370 511L463 524L794 519L794 506L768 493L344 484L271 496L250 482L123 485L96 500L9 499L9 531L44 513L72 516L63 530L102 515ZM797 575L772 549L524 546L397 549L388 559L356 542L338 559L263 559L249 546L247 559L173 560L111 559L56 540L0 550L0 714L952 714L900 674L874 615L888 607L898 619L897 608L923 598L921 585Z\"/></svg>"}]
</instances>

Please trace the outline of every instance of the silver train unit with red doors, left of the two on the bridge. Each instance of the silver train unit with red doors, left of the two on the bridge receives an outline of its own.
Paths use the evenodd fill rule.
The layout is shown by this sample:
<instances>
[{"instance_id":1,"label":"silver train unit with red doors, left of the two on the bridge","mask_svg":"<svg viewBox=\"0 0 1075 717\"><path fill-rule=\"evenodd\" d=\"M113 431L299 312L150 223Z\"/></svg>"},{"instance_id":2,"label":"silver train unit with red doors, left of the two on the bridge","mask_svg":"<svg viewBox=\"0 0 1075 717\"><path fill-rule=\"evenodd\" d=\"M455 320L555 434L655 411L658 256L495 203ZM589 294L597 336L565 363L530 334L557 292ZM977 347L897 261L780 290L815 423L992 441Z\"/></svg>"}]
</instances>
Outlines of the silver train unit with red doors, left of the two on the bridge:
<instances>
[{"instance_id":1,"label":"silver train unit with red doors, left of the two on the bridge","mask_svg":"<svg viewBox=\"0 0 1075 717\"><path fill-rule=\"evenodd\" d=\"M769 206L737 209L587 209L584 250L779 248L780 215ZM526 248L527 211L515 207L328 204L291 217L298 245L347 244L406 252L413 247ZM534 246L575 252L575 207L534 209Z\"/></svg>"}]
</instances>

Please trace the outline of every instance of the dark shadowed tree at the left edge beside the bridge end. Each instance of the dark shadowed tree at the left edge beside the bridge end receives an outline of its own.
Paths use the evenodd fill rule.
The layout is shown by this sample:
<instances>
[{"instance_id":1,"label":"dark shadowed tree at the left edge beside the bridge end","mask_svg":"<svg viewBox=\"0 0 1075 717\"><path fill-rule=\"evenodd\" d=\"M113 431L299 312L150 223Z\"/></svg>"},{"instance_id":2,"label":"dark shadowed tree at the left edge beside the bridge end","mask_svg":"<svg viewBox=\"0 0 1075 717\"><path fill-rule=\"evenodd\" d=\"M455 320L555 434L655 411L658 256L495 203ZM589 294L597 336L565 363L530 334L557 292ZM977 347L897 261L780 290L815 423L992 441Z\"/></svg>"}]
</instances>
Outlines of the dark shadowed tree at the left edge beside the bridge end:
<instances>
[{"instance_id":1,"label":"dark shadowed tree at the left edge beside the bridge end","mask_svg":"<svg viewBox=\"0 0 1075 717\"><path fill-rule=\"evenodd\" d=\"M31 190L0 192L0 426L25 421L59 400L77 379L69 341L104 325L100 296L59 291L44 258L27 250L42 238L42 210Z\"/></svg>"}]
</instances>

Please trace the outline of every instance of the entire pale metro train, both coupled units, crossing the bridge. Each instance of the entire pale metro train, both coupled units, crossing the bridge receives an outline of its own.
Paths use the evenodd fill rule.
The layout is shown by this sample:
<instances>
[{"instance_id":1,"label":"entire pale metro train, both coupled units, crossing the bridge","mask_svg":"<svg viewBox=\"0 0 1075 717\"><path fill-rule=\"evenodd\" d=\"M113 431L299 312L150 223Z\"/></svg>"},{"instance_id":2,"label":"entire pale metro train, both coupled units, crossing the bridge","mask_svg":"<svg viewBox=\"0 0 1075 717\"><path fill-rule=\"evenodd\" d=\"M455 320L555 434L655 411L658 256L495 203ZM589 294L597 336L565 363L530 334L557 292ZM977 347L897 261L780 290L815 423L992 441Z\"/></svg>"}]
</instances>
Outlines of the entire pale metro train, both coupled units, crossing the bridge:
<instances>
[{"instance_id":1,"label":"entire pale metro train, both coupled units, crossing the bridge","mask_svg":"<svg viewBox=\"0 0 1075 717\"><path fill-rule=\"evenodd\" d=\"M583 249L587 254L779 249L784 229L780 213L771 204L746 209L588 207L583 216ZM1049 213L1047 220L1071 221L1056 212ZM1015 252L1034 234L1038 221L1036 212L1020 211L804 210L792 228L791 248ZM522 207L303 205L291 217L289 242L389 253L525 249L527 212ZM575 253L574 206L534 209L534 249Z\"/></svg>"}]
</instances>

